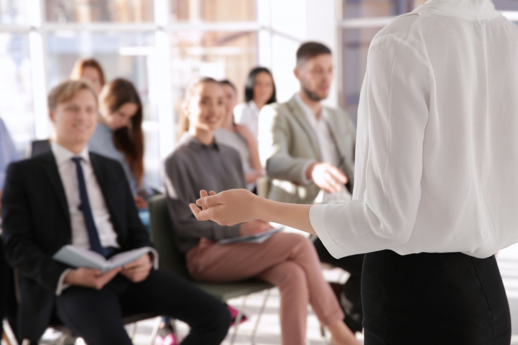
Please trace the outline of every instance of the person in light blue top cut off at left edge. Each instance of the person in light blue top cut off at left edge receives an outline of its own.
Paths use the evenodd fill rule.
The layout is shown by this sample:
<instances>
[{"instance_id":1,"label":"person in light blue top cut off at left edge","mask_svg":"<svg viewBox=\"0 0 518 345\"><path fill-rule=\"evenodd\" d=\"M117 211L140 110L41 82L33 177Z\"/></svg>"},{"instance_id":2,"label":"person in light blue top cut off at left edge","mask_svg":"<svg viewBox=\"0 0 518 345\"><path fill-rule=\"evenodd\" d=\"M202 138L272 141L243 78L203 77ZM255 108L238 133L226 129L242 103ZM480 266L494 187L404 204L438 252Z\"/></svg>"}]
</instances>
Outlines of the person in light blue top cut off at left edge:
<instances>
[{"instance_id":1,"label":"person in light blue top cut off at left edge","mask_svg":"<svg viewBox=\"0 0 518 345\"><path fill-rule=\"evenodd\" d=\"M4 190L5 173L7 166L19 158L16 152L15 143L9 135L7 127L2 118L0 118L0 198ZM2 211L2 202L0 201L0 212ZM1 215L1 213L0 213ZM0 217L1 220L2 217ZM1 221L0 221L1 233ZM12 281L12 269L5 260L4 245L0 241L0 320L4 317L8 318L11 327L15 327L16 314L16 297L14 293L14 284Z\"/></svg>"}]
</instances>

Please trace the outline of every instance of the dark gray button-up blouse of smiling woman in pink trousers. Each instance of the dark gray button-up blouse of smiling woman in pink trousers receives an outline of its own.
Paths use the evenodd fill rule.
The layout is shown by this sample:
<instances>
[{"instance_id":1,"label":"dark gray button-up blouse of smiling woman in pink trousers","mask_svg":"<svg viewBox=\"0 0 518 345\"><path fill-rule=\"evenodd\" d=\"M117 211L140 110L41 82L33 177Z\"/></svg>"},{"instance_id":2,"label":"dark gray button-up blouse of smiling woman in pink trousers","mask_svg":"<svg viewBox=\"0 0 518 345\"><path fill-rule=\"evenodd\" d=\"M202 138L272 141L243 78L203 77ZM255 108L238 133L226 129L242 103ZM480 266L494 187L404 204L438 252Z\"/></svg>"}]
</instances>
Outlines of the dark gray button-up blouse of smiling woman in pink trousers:
<instances>
[{"instance_id":1,"label":"dark gray button-up blouse of smiling woman in pink trousers","mask_svg":"<svg viewBox=\"0 0 518 345\"><path fill-rule=\"evenodd\" d=\"M219 241L239 236L240 224L227 227L210 220L198 221L189 208L199 198L201 189L219 193L246 188L241 159L235 149L216 142L206 146L184 133L165 159L164 168L167 206L180 251L187 252L202 237Z\"/></svg>"}]
</instances>

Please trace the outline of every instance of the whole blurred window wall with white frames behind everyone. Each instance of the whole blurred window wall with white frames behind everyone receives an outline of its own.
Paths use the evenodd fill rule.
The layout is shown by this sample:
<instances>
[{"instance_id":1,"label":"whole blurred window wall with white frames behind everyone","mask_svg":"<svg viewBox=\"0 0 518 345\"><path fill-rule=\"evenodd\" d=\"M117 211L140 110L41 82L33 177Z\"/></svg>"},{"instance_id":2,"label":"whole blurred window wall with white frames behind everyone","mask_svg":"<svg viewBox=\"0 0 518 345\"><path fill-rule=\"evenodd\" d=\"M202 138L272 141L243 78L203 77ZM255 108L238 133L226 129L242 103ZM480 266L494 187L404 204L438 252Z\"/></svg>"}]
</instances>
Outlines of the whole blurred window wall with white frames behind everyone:
<instances>
[{"instance_id":1,"label":"whole blurred window wall with white frames behind everyone","mask_svg":"<svg viewBox=\"0 0 518 345\"><path fill-rule=\"evenodd\" d=\"M107 80L123 77L145 104L145 167L161 185L175 146L183 86L196 76L233 81L270 68L279 101L298 88L295 51L306 40L332 48L335 82L326 103L356 122L371 39L420 0L0 0L0 116L21 157L50 136L46 95L79 58L94 57ZM494 0L518 23L518 1Z\"/></svg>"}]
</instances>

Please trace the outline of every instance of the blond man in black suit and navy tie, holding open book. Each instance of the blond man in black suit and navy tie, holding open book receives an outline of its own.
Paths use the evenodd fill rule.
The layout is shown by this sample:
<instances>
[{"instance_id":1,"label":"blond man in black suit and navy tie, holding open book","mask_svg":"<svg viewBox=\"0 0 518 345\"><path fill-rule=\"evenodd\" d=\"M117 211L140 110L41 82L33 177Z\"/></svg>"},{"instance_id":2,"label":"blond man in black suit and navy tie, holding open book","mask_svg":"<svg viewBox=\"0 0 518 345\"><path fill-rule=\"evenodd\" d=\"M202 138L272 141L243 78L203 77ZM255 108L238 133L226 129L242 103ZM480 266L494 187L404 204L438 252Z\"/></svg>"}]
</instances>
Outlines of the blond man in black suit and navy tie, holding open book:
<instances>
[{"instance_id":1,"label":"blond man in black suit and navy tie, holding open book","mask_svg":"<svg viewBox=\"0 0 518 345\"><path fill-rule=\"evenodd\" d=\"M19 336L36 341L53 311L92 344L131 344L123 315L156 312L188 323L182 344L219 344L230 316L191 283L157 271L157 254L139 220L119 163L88 152L97 99L88 82L66 81L49 94L56 140L51 152L12 163L2 197L6 256L20 273ZM62 246L150 254L104 274L52 259Z\"/></svg>"}]
</instances>

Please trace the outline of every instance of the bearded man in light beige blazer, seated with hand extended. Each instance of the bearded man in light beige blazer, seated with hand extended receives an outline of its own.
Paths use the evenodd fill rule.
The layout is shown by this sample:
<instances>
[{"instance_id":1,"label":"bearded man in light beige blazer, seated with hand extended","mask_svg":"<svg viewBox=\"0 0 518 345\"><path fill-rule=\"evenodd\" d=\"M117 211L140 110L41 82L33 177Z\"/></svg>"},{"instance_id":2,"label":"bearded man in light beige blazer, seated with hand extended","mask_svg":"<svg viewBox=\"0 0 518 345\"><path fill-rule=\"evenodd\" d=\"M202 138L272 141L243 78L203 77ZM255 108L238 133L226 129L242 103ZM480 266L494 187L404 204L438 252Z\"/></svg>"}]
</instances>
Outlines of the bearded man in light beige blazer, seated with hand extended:
<instances>
[{"instance_id":1,"label":"bearded man in light beige blazer, seated with hand extended","mask_svg":"<svg viewBox=\"0 0 518 345\"><path fill-rule=\"evenodd\" d=\"M318 42L297 50L300 89L285 103L265 106L259 115L259 148L270 179L268 199L298 204L351 200L356 131L347 113L324 107L333 80L333 58ZM333 258L316 239L320 260L351 276L339 299L353 332L362 331L360 280L363 254Z\"/></svg>"}]
</instances>

